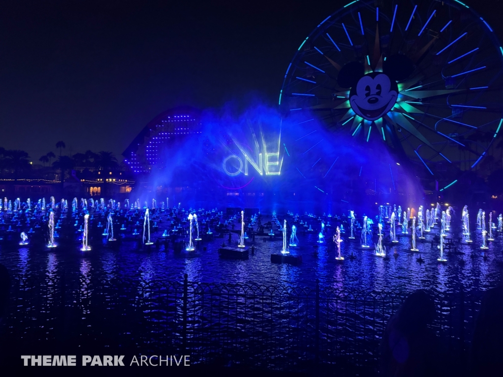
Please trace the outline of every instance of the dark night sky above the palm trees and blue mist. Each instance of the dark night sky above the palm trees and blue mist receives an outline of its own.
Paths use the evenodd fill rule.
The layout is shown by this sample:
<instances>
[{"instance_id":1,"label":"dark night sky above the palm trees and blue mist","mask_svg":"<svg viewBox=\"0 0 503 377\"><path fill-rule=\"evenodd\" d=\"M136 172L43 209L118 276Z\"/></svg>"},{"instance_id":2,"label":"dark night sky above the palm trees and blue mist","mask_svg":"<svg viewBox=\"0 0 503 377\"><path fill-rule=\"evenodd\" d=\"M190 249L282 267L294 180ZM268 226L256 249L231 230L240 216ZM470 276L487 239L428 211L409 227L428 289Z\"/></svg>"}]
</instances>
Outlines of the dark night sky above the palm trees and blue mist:
<instances>
[{"instance_id":1,"label":"dark night sky above the palm trees and blue mist","mask_svg":"<svg viewBox=\"0 0 503 377\"><path fill-rule=\"evenodd\" d=\"M347 3L0 3L0 146L34 161L58 140L66 154L119 157L174 106L218 108L250 92L274 106L300 43ZM467 0L500 38L502 3Z\"/></svg>"}]
</instances>

